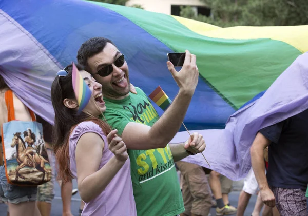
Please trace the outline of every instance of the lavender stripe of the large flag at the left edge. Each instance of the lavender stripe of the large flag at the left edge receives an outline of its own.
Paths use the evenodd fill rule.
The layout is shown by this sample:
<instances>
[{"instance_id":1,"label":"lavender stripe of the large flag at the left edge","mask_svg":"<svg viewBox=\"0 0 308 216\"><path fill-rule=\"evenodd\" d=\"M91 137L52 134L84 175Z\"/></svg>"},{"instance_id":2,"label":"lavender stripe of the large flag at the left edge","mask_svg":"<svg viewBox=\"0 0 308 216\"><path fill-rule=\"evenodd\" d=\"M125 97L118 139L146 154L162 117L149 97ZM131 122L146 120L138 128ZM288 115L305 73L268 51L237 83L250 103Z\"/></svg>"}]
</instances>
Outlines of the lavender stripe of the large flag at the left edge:
<instances>
[{"instance_id":1,"label":"lavender stripe of the large flag at the left edge","mask_svg":"<svg viewBox=\"0 0 308 216\"><path fill-rule=\"evenodd\" d=\"M52 124L51 83L61 65L1 9L0 23L0 74L27 107Z\"/></svg>"}]
</instances>

